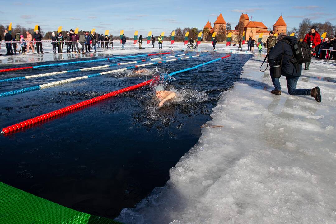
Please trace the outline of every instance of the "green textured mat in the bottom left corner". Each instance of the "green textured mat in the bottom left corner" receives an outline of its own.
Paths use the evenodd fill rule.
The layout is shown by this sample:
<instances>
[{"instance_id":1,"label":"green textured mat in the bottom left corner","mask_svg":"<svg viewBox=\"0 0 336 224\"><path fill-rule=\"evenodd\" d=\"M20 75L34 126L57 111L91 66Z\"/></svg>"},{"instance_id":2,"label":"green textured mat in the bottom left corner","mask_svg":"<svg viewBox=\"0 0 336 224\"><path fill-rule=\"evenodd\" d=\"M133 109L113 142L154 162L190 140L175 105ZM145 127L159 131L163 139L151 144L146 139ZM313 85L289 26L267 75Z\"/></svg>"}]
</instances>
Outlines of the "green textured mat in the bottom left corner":
<instances>
[{"instance_id":1,"label":"green textured mat in the bottom left corner","mask_svg":"<svg viewBox=\"0 0 336 224\"><path fill-rule=\"evenodd\" d=\"M1 224L121 224L78 212L0 182Z\"/></svg>"}]
</instances>

